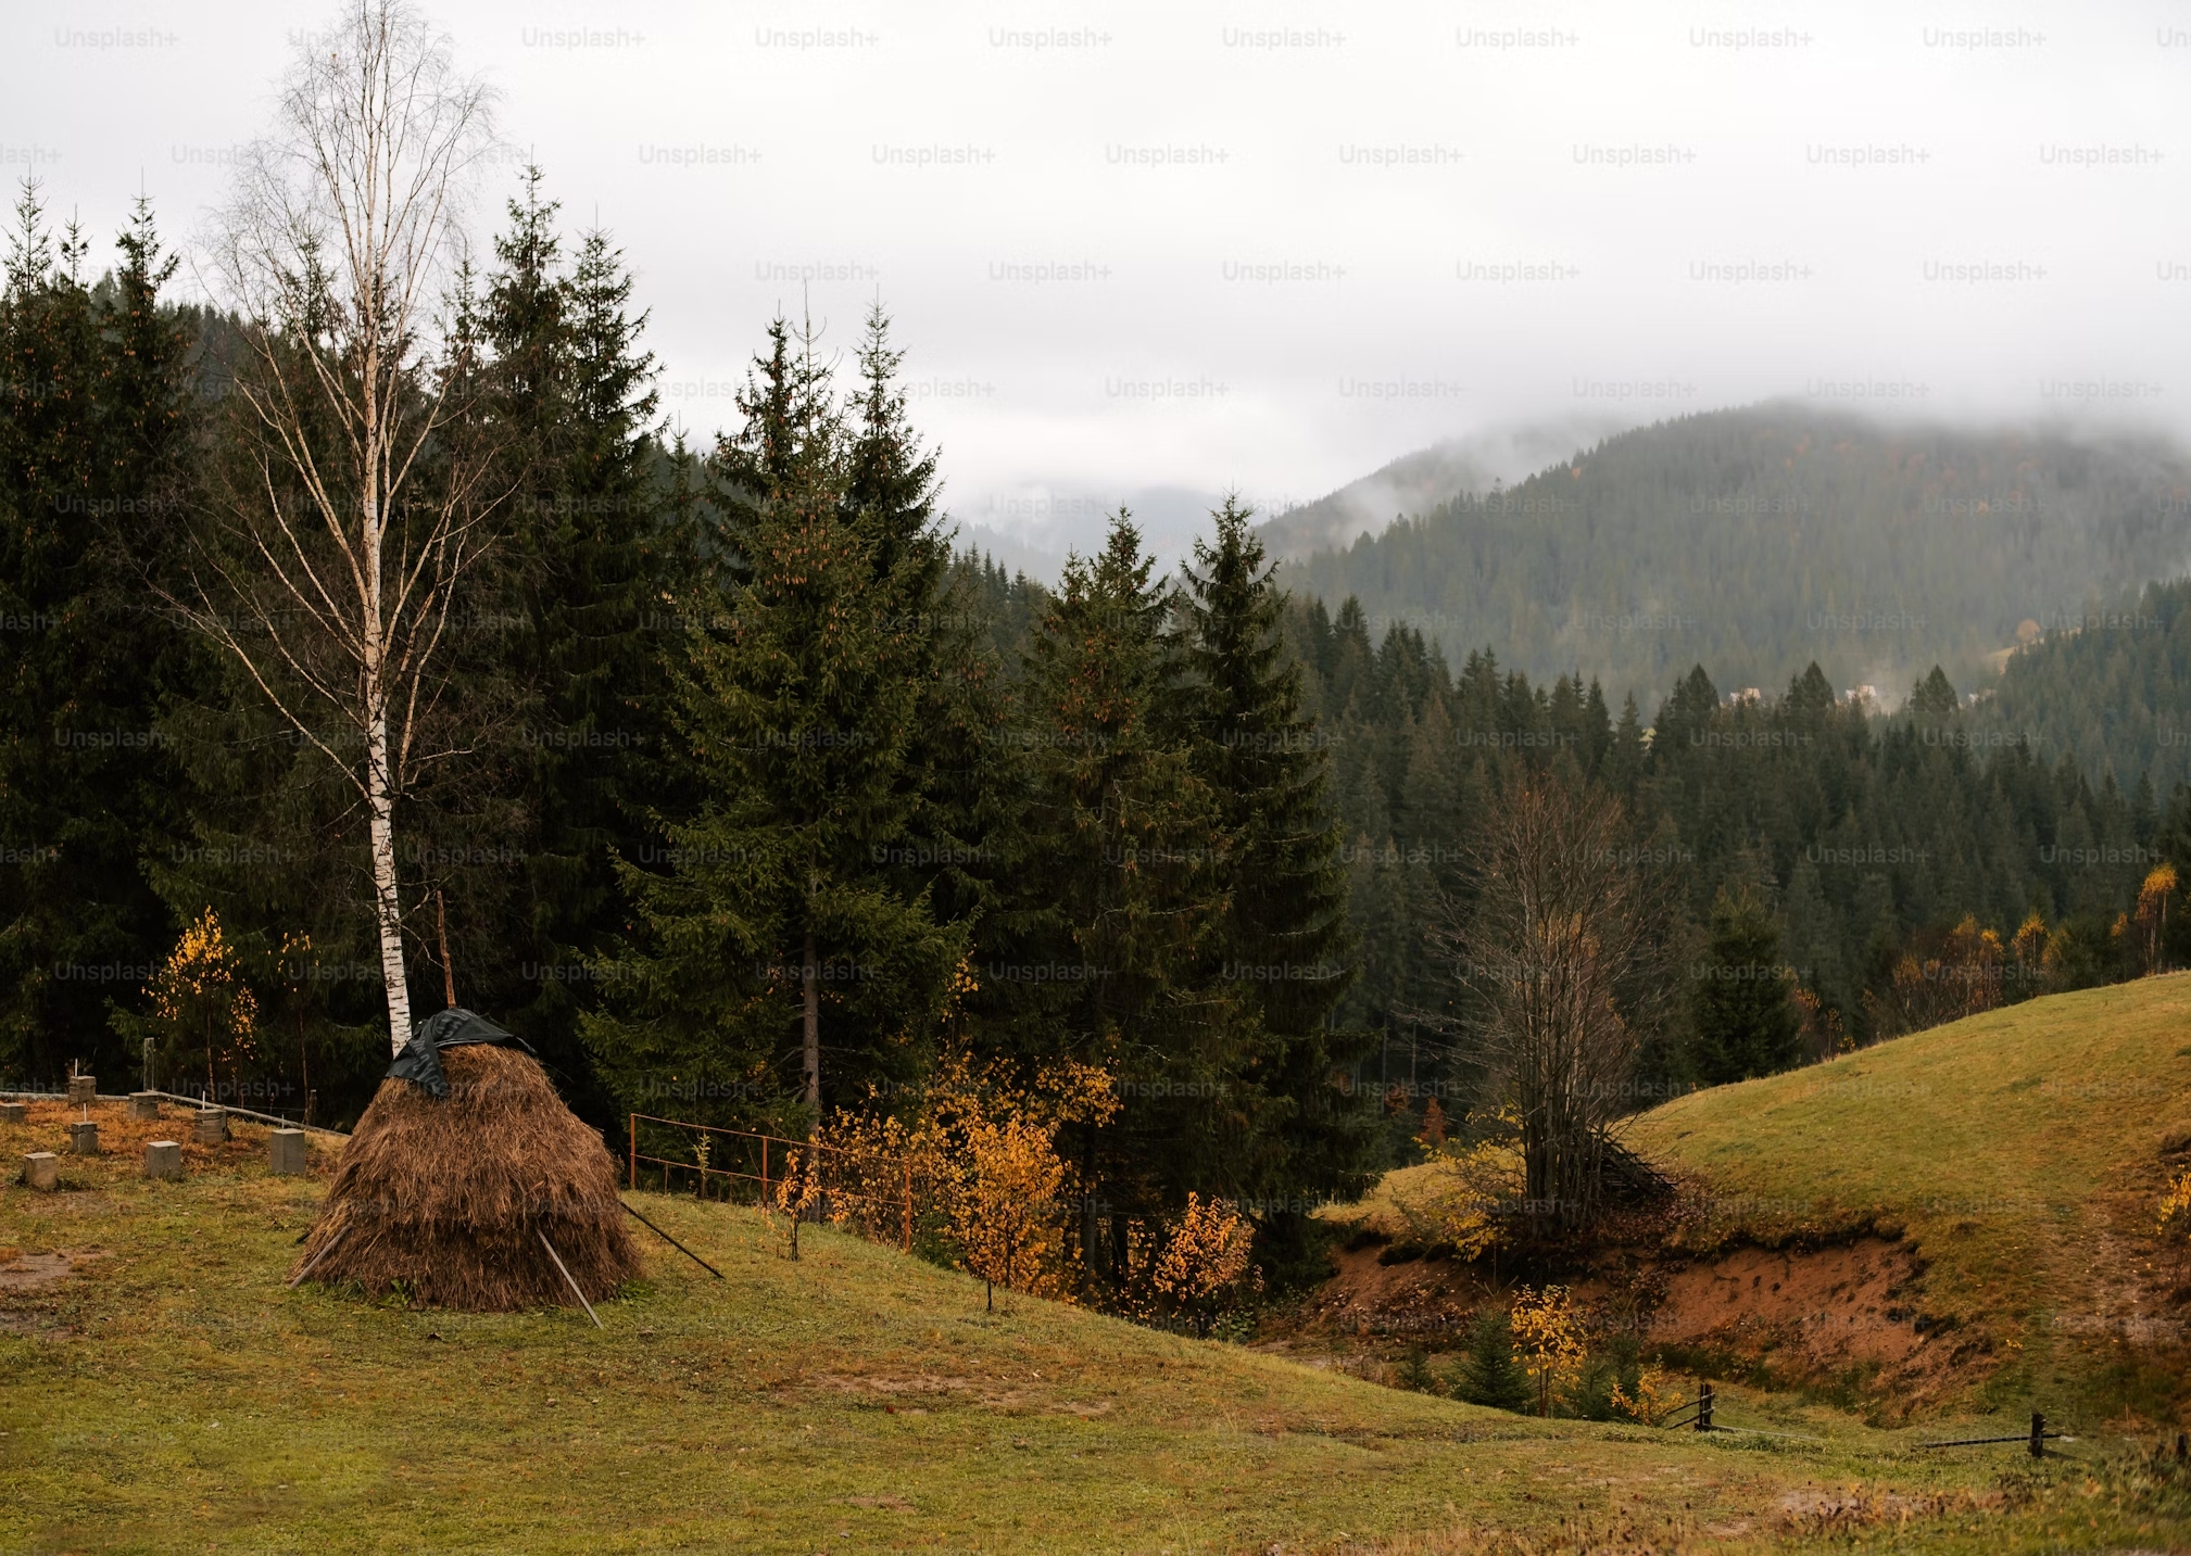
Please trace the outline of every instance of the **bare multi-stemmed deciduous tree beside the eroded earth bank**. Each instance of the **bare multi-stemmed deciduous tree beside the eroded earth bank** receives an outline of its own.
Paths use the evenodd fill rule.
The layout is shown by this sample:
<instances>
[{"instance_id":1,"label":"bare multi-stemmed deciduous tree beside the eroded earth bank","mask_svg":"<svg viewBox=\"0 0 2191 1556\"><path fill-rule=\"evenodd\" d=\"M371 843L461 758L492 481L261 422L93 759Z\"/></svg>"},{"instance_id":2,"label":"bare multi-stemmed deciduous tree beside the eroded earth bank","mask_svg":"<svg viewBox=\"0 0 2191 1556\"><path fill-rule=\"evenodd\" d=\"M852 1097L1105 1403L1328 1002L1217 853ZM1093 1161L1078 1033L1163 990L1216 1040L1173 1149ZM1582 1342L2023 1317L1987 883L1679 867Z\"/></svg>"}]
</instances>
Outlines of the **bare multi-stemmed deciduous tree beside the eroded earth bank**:
<instances>
[{"instance_id":1,"label":"bare multi-stemmed deciduous tree beside the eroded earth bank","mask_svg":"<svg viewBox=\"0 0 2191 1556\"><path fill-rule=\"evenodd\" d=\"M1617 798L1558 771L1516 774L1470 853L1475 907L1439 940L1521 1118L1529 1219L1573 1227L1597 1214L1608 1129L1672 988L1665 872L1641 863Z\"/></svg>"}]
</instances>

